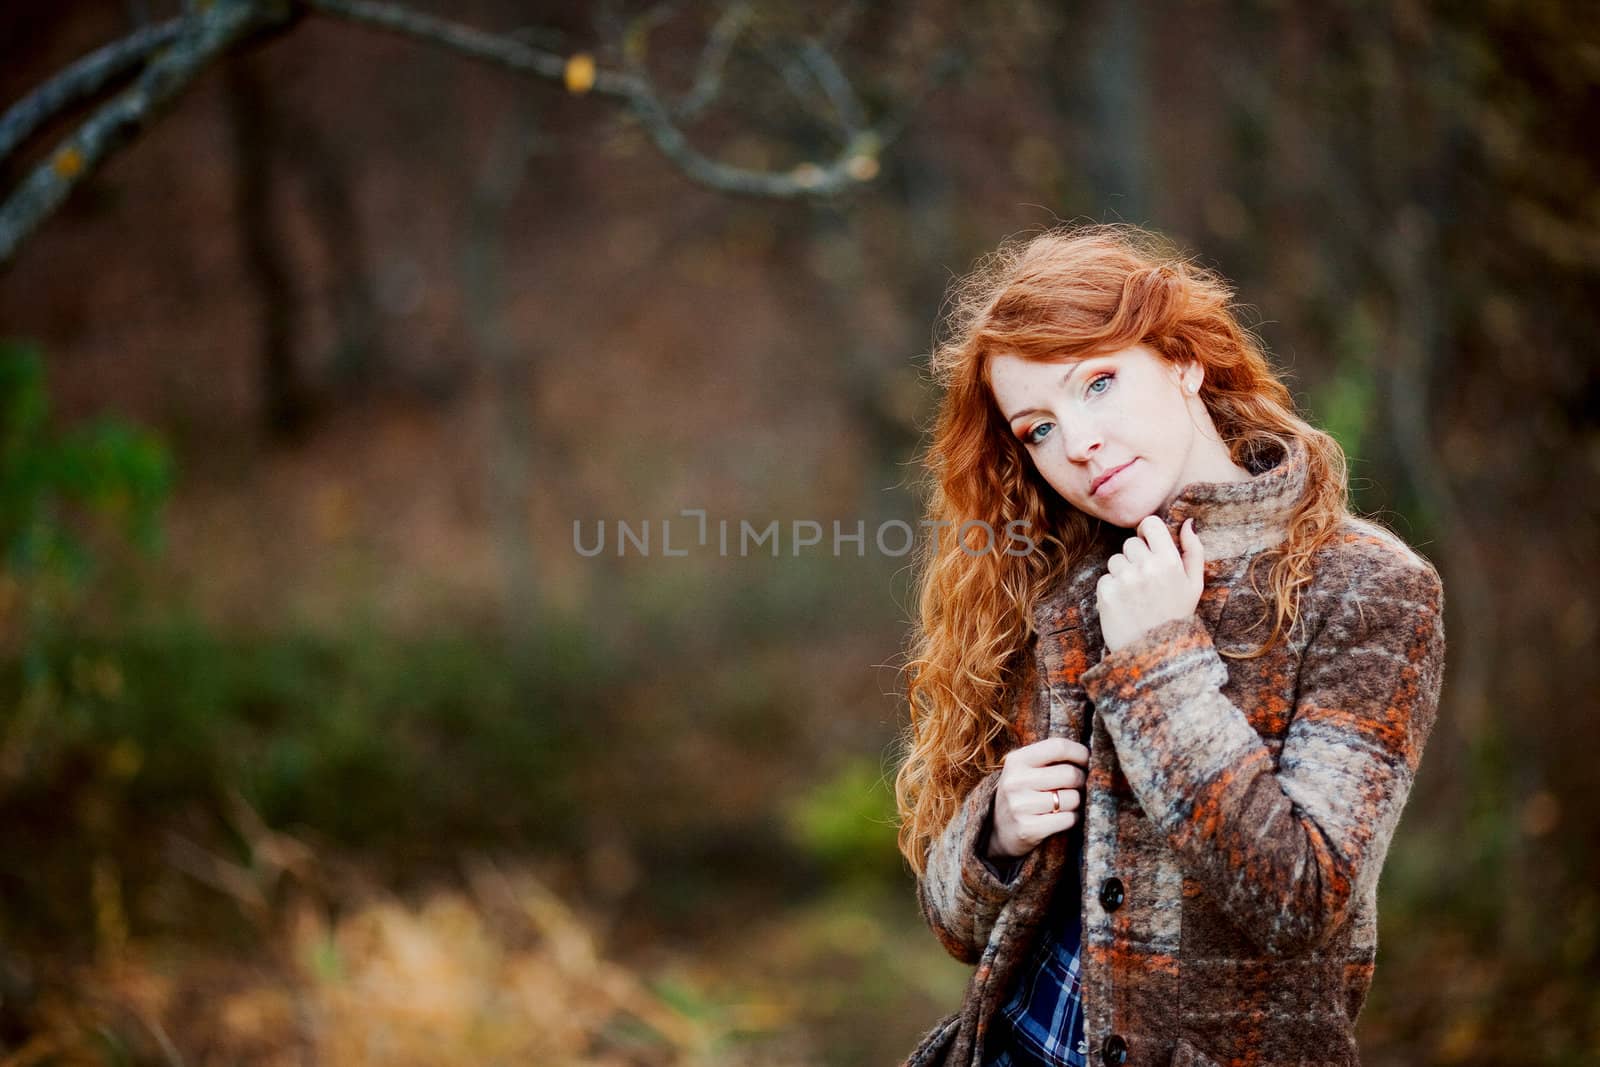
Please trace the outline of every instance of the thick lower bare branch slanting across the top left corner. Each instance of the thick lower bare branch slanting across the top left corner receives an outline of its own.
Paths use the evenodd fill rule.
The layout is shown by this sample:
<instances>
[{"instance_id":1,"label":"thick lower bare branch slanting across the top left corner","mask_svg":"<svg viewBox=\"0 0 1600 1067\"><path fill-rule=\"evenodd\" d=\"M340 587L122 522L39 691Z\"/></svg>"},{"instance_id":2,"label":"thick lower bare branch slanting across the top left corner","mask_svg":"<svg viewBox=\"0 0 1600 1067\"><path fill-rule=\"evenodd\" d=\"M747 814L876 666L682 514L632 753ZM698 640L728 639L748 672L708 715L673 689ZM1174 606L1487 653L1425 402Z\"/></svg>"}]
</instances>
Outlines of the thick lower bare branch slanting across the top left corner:
<instances>
[{"instance_id":1,"label":"thick lower bare branch slanting across the top left corner","mask_svg":"<svg viewBox=\"0 0 1600 1067\"><path fill-rule=\"evenodd\" d=\"M290 16L286 5L248 0L214 0L186 16L171 45L150 59L139 80L94 112L0 205L0 262L218 54Z\"/></svg>"}]
</instances>

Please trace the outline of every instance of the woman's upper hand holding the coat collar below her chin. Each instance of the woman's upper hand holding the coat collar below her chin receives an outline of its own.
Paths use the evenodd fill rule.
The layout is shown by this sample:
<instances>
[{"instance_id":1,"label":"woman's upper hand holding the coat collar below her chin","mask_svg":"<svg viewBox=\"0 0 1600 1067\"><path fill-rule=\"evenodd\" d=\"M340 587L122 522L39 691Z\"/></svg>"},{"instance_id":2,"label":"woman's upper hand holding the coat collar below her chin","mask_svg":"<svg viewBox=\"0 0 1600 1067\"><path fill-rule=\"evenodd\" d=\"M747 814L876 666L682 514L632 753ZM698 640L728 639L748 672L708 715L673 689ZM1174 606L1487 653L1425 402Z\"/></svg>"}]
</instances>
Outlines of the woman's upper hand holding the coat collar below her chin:
<instances>
[{"instance_id":1,"label":"woman's upper hand holding the coat collar below her chin","mask_svg":"<svg viewBox=\"0 0 1600 1067\"><path fill-rule=\"evenodd\" d=\"M1122 552L1106 561L1096 585L1101 632L1106 648L1115 651L1150 627L1194 614L1205 589L1205 545L1194 520L1178 531L1182 553L1155 515L1134 528Z\"/></svg>"}]
</instances>

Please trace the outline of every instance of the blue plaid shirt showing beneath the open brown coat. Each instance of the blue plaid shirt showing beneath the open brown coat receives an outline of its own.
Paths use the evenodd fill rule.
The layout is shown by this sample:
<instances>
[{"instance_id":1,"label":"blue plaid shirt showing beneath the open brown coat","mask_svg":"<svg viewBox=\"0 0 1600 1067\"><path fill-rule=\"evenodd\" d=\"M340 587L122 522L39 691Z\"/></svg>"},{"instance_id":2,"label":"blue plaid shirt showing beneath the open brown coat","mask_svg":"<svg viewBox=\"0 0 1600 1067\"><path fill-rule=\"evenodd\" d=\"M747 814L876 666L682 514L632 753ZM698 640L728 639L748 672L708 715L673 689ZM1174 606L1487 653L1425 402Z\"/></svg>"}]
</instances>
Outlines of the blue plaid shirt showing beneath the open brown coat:
<instances>
[{"instance_id":1,"label":"blue plaid shirt showing beneath the open brown coat","mask_svg":"<svg viewBox=\"0 0 1600 1067\"><path fill-rule=\"evenodd\" d=\"M1016 989L1000 1006L984 1038L984 1067L1085 1067L1083 995L1078 987L1078 848L1061 872L1050 907L1050 926L1040 937Z\"/></svg>"}]
</instances>

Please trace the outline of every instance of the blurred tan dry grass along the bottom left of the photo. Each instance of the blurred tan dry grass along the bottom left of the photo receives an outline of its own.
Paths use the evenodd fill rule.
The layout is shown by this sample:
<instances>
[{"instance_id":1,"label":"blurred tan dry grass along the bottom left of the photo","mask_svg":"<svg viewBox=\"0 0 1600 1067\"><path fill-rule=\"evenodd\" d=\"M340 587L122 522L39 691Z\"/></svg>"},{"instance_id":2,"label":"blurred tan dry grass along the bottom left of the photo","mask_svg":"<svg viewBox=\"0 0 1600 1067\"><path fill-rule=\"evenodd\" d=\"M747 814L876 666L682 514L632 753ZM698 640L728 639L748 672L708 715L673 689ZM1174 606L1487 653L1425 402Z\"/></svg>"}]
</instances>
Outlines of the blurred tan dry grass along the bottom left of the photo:
<instances>
[{"instance_id":1,"label":"blurred tan dry grass along the bottom left of the photo","mask_svg":"<svg viewBox=\"0 0 1600 1067\"><path fill-rule=\"evenodd\" d=\"M261 958L122 941L72 971L72 993L37 1001L34 1037L0 1067L744 1062L731 1030L749 1019L669 1003L603 958L533 872L485 859L464 870L459 888L411 904L376 896L338 918L288 894ZM762 1062L811 1061L765 1048Z\"/></svg>"}]
</instances>

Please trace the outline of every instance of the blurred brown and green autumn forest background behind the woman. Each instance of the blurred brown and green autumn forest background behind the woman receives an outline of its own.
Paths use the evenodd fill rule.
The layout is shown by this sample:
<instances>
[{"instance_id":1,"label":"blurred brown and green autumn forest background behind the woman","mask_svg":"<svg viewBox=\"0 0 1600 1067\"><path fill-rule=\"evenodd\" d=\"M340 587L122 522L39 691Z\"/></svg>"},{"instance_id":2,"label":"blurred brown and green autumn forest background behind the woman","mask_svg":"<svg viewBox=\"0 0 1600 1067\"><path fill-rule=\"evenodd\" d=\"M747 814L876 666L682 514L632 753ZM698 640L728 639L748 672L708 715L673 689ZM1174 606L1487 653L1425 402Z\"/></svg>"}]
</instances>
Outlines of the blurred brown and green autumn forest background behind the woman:
<instances>
[{"instance_id":1,"label":"blurred brown and green autumn forest background behind the woman","mask_svg":"<svg viewBox=\"0 0 1600 1067\"><path fill-rule=\"evenodd\" d=\"M1237 282L1445 574L1366 1062L1600 1062L1592 3L434 13L598 88L310 10L0 152L75 182L0 262L0 1064L898 1062L909 557L787 523L915 522L946 285L1058 219ZM178 14L5 5L0 104Z\"/></svg>"}]
</instances>

